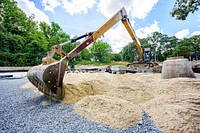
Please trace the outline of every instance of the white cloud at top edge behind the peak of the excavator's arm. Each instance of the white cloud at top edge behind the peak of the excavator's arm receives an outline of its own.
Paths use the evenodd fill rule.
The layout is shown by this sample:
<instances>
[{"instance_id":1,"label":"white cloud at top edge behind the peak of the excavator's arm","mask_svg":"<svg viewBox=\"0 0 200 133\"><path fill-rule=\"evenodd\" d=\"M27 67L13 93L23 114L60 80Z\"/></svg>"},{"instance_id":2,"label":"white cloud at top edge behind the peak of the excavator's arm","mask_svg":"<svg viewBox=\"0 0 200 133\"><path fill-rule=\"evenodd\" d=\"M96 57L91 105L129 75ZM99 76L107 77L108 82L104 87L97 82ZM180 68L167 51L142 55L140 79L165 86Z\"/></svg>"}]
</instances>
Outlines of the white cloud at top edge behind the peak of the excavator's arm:
<instances>
[{"instance_id":1,"label":"white cloud at top edge behind the peak of the excavator's arm","mask_svg":"<svg viewBox=\"0 0 200 133\"><path fill-rule=\"evenodd\" d=\"M120 8L125 7L133 18L144 19L156 5L158 0L100 0L98 11L109 18Z\"/></svg>"}]
</instances>

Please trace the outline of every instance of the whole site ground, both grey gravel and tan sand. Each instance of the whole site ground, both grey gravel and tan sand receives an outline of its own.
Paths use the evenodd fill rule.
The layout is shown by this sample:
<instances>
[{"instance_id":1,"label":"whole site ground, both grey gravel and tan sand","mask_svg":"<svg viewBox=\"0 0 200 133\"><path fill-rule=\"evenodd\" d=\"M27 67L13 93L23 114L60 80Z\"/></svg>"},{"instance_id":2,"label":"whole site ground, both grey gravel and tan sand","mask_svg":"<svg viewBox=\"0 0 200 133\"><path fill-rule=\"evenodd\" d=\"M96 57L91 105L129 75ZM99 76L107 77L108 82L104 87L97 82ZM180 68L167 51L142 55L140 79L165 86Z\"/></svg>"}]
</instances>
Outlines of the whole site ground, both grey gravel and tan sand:
<instances>
[{"instance_id":1,"label":"whole site ground, both grey gravel and tan sand","mask_svg":"<svg viewBox=\"0 0 200 133\"><path fill-rule=\"evenodd\" d=\"M25 75L0 79L0 132L200 132L200 74L68 73L61 103Z\"/></svg>"}]
</instances>

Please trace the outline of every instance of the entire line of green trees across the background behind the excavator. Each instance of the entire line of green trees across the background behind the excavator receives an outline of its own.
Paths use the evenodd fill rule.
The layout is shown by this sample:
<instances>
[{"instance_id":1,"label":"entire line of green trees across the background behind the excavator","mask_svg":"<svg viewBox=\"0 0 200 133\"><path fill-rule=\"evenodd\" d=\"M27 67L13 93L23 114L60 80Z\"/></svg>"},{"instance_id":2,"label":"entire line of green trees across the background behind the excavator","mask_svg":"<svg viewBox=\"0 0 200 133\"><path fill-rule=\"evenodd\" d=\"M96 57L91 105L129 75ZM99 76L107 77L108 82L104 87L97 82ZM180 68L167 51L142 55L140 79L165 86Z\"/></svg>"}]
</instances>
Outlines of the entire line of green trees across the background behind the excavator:
<instances>
[{"instance_id":1,"label":"entire line of green trees across the background behind the excavator","mask_svg":"<svg viewBox=\"0 0 200 133\"><path fill-rule=\"evenodd\" d=\"M42 63L53 45L66 42L70 35L65 33L55 22L48 25L36 22L33 17L17 7L14 0L0 1L0 66L34 66ZM142 48L150 48L156 53L157 61L164 61L171 56L189 58L192 52L200 51L200 36L192 36L182 40L175 36L154 32L151 36L139 39ZM63 46L66 53L80 42ZM84 49L74 60L75 62L96 61L128 61L137 57L137 49L133 43L126 44L119 53L113 53L111 46L98 40L88 49ZM54 56L59 59L58 55Z\"/></svg>"}]
</instances>

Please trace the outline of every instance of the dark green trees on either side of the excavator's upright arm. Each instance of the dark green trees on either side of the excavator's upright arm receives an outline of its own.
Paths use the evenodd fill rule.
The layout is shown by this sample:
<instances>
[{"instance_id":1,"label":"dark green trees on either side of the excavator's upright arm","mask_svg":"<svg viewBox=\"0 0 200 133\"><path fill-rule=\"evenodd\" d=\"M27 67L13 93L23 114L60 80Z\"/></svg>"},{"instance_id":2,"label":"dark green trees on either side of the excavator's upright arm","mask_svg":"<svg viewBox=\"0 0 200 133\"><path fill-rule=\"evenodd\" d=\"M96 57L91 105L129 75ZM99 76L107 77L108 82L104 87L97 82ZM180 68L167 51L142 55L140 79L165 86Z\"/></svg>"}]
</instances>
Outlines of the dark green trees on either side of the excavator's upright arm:
<instances>
[{"instance_id":1,"label":"dark green trees on either side of the excavator's upright arm","mask_svg":"<svg viewBox=\"0 0 200 133\"><path fill-rule=\"evenodd\" d=\"M193 53L200 52L200 35L190 38L178 39L175 36L167 36L159 32L153 32L149 37L139 39L143 50L150 48L152 56L156 55L156 61L164 61L173 56L184 56L190 59ZM120 52L124 61L133 61L137 57L137 49L133 43L126 45ZM153 57L152 57L153 58Z\"/></svg>"}]
</instances>

